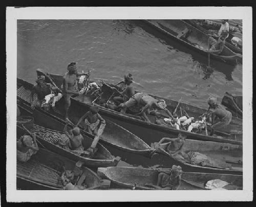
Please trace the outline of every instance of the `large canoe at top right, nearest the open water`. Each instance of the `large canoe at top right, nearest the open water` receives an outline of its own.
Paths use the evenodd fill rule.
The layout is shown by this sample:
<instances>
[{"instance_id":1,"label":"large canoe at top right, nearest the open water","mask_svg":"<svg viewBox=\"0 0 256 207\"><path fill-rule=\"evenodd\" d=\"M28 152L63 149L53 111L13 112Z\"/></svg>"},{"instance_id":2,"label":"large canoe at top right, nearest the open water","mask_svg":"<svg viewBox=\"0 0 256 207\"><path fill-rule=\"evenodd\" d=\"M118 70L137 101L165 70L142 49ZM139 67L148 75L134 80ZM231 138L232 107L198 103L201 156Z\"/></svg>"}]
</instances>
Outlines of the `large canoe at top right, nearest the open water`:
<instances>
[{"instance_id":1,"label":"large canoe at top right, nearest the open water","mask_svg":"<svg viewBox=\"0 0 256 207\"><path fill-rule=\"evenodd\" d=\"M198 51L198 53L208 56L207 50L209 37L193 25L188 24L181 19L144 20L144 22L187 47ZM224 46L221 55L211 53L210 57L229 65L236 65L238 62L242 62L242 55L234 53L226 46Z\"/></svg>"}]
</instances>

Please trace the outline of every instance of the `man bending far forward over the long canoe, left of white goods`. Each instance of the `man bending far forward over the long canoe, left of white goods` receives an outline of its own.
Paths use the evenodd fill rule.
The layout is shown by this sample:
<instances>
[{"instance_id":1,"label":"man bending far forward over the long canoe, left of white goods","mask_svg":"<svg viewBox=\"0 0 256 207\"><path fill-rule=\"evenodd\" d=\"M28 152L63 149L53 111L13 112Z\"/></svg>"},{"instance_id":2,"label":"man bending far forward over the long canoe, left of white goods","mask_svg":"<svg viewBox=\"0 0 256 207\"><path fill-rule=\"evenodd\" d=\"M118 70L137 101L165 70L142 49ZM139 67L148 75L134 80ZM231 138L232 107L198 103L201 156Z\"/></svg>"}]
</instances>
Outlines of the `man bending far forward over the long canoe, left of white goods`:
<instances>
[{"instance_id":1,"label":"man bending far forward over the long canoe, left of white goods","mask_svg":"<svg viewBox=\"0 0 256 207\"><path fill-rule=\"evenodd\" d=\"M132 107L135 105L142 106L142 116L145 118L146 122L148 124L151 124L150 119L146 116L146 113L150 113L150 109L163 109L169 117L173 118L173 115L169 112L168 109L166 109L165 101L162 99L155 99L150 95L147 95L145 93L136 93L133 95L129 100L127 100L124 104L121 104L120 107L122 108L121 113L125 113L128 107Z\"/></svg>"}]
</instances>

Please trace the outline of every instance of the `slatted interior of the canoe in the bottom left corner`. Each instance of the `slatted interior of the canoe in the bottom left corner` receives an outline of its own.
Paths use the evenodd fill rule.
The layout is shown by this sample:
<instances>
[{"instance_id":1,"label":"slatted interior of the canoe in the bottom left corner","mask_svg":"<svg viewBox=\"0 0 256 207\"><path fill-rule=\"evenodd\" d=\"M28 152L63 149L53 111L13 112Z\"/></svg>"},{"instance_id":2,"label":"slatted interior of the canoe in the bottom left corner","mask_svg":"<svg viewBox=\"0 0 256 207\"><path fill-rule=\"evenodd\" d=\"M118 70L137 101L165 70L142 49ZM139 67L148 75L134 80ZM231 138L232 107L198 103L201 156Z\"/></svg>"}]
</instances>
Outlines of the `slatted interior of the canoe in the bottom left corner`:
<instances>
[{"instance_id":1,"label":"slatted interior of the canoe in the bottom left corner","mask_svg":"<svg viewBox=\"0 0 256 207\"><path fill-rule=\"evenodd\" d=\"M17 176L62 190L60 176L63 166L66 170L73 170L75 162L49 150L39 148L29 161L17 161ZM85 182L89 188L100 183L101 178L95 172L86 167L82 167L82 170L82 177L86 179Z\"/></svg>"}]
</instances>

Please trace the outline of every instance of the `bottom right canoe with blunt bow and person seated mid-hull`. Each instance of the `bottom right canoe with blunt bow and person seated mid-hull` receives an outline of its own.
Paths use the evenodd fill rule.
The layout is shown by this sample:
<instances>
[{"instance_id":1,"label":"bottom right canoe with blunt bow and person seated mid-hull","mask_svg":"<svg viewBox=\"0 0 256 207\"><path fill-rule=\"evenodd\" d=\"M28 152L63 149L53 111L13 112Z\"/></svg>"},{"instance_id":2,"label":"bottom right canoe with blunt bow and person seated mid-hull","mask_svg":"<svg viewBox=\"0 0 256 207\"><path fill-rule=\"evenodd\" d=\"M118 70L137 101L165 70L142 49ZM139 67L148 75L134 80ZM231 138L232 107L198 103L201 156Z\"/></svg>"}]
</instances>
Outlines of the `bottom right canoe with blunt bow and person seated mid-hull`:
<instances>
[{"instance_id":1,"label":"bottom right canoe with blunt bow and person seated mid-hull","mask_svg":"<svg viewBox=\"0 0 256 207\"><path fill-rule=\"evenodd\" d=\"M159 170L135 168L135 167L107 167L98 168L97 174L102 178L111 180L111 185L119 188L132 189L136 183L135 190L156 190L144 186L145 184L157 184ZM221 179L229 185L226 190L242 190L243 176L218 173L182 172L181 185L178 190L207 190L205 184L212 179Z\"/></svg>"}]
</instances>

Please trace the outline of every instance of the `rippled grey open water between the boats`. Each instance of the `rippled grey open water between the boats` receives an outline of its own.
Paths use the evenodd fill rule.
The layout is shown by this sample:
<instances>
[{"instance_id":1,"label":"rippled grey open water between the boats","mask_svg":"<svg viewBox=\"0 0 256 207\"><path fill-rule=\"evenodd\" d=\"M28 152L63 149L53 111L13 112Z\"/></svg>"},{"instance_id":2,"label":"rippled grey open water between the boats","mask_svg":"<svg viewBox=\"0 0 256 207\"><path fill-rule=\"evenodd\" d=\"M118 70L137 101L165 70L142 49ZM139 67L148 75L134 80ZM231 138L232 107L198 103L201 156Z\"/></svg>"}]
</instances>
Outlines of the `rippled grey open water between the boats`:
<instances>
[{"instance_id":1,"label":"rippled grey open water between the boats","mask_svg":"<svg viewBox=\"0 0 256 207\"><path fill-rule=\"evenodd\" d=\"M242 94L242 65L229 66L169 39L139 20L18 20L17 76L35 69L63 74L76 61L92 79L116 83L134 75L141 91L206 108L209 95Z\"/></svg>"}]
</instances>

